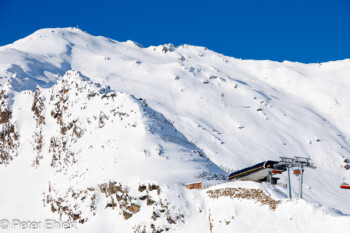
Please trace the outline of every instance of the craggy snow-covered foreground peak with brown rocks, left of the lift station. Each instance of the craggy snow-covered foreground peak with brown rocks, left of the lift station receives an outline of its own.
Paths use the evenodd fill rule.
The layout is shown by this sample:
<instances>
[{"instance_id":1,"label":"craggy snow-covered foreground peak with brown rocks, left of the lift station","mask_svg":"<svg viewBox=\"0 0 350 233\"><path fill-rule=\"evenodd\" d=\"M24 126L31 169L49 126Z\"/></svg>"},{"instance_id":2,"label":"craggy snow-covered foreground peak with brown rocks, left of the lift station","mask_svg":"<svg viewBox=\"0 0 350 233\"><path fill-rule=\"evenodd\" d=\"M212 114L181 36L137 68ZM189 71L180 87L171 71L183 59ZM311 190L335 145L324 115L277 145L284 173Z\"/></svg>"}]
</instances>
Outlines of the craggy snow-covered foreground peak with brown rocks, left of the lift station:
<instances>
[{"instance_id":1,"label":"craggy snow-covered foreground peak with brown rocks, left of the lift station","mask_svg":"<svg viewBox=\"0 0 350 233\"><path fill-rule=\"evenodd\" d=\"M3 93L4 100L12 96L1 137L8 153L1 154L0 170L13 178L1 181L8 188L0 205L9 218L39 218L45 211L83 224L99 208L118 203L120 211L112 213L118 218L141 212L128 230L140 219L151 221L158 209L157 218L181 224L186 208L176 209L183 205L177 195L186 182L225 179L223 170L146 101L103 88L79 72L69 71L34 93L11 88ZM176 189L177 195L168 194ZM24 194L30 203L18 201ZM154 225L171 228L165 223Z\"/></svg>"}]
</instances>

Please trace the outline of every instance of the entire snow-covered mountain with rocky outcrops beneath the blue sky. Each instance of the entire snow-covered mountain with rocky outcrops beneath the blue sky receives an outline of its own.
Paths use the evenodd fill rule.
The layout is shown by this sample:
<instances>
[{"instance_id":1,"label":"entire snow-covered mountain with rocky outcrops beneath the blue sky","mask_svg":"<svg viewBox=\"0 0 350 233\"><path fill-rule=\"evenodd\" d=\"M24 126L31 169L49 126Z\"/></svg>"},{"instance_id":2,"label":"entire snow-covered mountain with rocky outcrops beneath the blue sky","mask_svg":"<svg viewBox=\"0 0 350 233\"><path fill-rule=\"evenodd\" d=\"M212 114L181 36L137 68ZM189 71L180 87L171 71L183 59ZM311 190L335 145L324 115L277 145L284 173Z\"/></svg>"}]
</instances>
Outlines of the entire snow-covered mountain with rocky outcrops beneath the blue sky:
<instances>
[{"instance_id":1,"label":"entire snow-covered mountain with rocky outcrops beneath the blue sky","mask_svg":"<svg viewBox=\"0 0 350 233\"><path fill-rule=\"evenodd\" d=\"M349 75L350 60L241 60L39 30L0 48L0 218L74 220L81 232L347 232ZM280 156L316 165L304 200L224 182ZM185 188L195 181L224 183Z\"/></svg>"}]
</instances>

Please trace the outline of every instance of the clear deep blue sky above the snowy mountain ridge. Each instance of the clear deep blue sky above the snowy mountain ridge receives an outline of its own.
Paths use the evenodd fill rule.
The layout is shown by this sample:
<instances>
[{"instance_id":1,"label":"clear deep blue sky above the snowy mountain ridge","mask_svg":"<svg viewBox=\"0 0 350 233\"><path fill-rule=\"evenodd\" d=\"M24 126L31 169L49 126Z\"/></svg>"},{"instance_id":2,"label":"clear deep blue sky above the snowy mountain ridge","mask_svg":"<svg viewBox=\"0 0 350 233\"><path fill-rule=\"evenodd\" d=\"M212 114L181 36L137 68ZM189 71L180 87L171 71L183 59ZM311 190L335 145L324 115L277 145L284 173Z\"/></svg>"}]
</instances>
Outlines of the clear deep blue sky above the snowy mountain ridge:
<instances>
[{"instance_id":1,"label":"clear deep blue sky above the snowy mountain ridge","mask_svg":"<svg viewBox=\"0 0 350 233\"><path fill-rule=\"evenodd\" d=\"M350 58L350 0L0 0L0 45L77 25L118 41L200 45L243 59Z\"/></svg>"}]
</instances>

